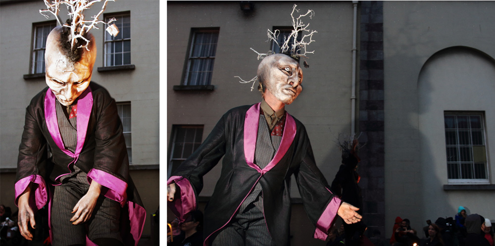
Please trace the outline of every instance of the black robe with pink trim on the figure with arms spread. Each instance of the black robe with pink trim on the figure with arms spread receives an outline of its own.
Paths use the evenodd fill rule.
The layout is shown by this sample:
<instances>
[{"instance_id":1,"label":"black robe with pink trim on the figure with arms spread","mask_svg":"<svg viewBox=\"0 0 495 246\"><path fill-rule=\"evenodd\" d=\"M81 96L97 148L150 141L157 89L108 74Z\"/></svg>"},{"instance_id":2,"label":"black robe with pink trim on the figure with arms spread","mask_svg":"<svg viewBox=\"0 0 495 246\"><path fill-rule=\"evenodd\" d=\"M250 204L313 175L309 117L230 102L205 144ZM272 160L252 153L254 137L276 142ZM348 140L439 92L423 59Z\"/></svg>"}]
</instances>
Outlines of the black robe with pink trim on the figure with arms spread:
<instances>
[{"instance_id":1,"label":"black robe with pink trim on the figure with arms spread","mask_svg":"<svg viewBox=\"0 0 495 246\"><path fill-rule=\"evenodd\" d=\"M256 107L257 111L253 110ZM249 122L250 117L250 125L245 126L245 121ZM291 138L288 132L291 127L294 128L294 139L286 142L287 151L266 172L260 172L249 165L249 156L245 155L247 148L254 148L252 134L256 143L257 123L253 125L253 122L259 121L258 103L236 107L225 113L201 146L172 174L168 183L185 178L190 182L195 197L198 197L203 186L202 176L224 156L220 178L204 211L205 245L212 233L230 221L257 182L262 187L263 213L268 231L277 245L288 245L292 175L296 177L304 209L316 227L314 237L326 239L341 201L330 192L327 181L316 166L304 125L289 114L287 117L279 151L284 151L284 138ZM251 135L251 145L247 148L245 131ZM252 151L251 155L253 153ZM277 154L274 159L276 158ZM173 206L169 202L169 207L174 211ZM180 216L184 217L183 214Z\"/></svg>"}]
</instances>

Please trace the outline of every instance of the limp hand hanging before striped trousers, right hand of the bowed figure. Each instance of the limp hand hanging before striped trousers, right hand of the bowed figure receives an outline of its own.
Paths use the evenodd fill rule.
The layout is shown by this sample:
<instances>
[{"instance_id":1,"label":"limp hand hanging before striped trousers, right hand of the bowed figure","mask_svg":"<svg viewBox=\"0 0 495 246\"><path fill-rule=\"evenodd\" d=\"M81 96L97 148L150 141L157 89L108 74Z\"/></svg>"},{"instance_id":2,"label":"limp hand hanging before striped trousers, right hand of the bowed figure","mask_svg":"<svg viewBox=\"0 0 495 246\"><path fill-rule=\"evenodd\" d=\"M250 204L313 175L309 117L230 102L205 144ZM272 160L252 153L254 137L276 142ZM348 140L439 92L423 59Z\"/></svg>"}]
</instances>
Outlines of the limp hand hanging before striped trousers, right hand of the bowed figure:
<instances>
[{"instance_id":1,"label":"limp hand hanging before striped trousers, right hand of the bowed figure","mask_svg":"<svg viewBox=\"0 0 495 246\"><path fill-rule=\"evenodd\" d=\"M73 225L78 225L88 221L93 214L93 209L95 209L96 202L98 200L99 194L101 192L101 185L97 182L91 182L90 189L88 193L81 197L77 204L72 209L74 216L70 219Z\"/></svg>"}]
</instances>

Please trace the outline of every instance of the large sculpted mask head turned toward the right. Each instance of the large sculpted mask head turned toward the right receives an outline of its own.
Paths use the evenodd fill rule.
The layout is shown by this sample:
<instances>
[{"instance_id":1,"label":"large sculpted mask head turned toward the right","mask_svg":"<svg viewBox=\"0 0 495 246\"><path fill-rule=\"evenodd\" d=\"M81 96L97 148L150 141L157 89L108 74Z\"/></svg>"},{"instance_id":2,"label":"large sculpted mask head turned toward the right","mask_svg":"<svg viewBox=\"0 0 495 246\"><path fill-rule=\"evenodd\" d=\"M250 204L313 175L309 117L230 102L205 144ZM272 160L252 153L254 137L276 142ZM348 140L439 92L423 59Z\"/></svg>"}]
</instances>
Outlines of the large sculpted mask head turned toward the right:
<instances>
[{"instance_id":1,"label":"large sculpted mask head turned toward the right","mask_svg":"<svg viewBox=\"0 0 495 246\"><path fill-rule=\"evenodd\" d=\"M262 93L266 90L285 104L291 104L302 91L302 70L299 63L286 54L272 54L258 66Z\"/></svg>"}]
</instances>

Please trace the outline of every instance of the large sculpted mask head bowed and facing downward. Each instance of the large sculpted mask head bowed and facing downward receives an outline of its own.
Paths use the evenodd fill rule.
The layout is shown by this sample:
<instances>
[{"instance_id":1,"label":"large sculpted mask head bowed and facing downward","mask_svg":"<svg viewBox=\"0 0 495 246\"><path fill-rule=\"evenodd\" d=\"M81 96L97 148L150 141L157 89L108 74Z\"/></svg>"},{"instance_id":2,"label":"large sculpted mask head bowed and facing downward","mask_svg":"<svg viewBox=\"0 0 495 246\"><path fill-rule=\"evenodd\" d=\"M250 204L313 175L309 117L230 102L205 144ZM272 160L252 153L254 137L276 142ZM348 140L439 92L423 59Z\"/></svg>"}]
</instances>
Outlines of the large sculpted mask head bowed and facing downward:
<instances>
[{"instance_id":1,"label":"large sculpted mask head bowed and facing downward","mask_svg":"<svg viewBox=\"0 0 495 246\"><path fill-rule=\"evenodd\" d=\"M47 37L45 50L46 81L57 100L72 104L88 88L96 60L95 38L87 34L89 50L70 48L70 40L55 27Z\"/></svg>"}]
</instances>

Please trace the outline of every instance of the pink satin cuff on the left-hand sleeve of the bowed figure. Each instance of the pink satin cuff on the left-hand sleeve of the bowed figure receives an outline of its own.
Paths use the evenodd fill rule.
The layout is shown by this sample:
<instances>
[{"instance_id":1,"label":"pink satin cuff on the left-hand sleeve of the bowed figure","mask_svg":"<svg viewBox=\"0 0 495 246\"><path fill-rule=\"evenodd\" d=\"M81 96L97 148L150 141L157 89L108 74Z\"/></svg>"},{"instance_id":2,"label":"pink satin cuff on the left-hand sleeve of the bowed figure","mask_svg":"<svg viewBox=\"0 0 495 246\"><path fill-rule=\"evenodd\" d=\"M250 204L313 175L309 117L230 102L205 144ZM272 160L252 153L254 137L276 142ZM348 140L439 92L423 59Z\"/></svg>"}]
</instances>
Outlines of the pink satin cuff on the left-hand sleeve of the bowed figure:
<instances>
[{"instance_id":1,"label":"pink satin cuff on the left-hand sleeve of the bowed figure","mask_svg":"<svg viewBox=\"0 0 495 246\"><path fill-rule=\"evenodd\" d=\"M30 175L25 178L20 179L15 183L15 205L17 204L19 196L26 190L30 183L35 183L36 185L31 187L31 194L34 194L36 207L41 209L48 201L47 186L45 185L45 180L40 175ZM31 198L30 198L31 200Z\"/></svg>"}]
</instances>

